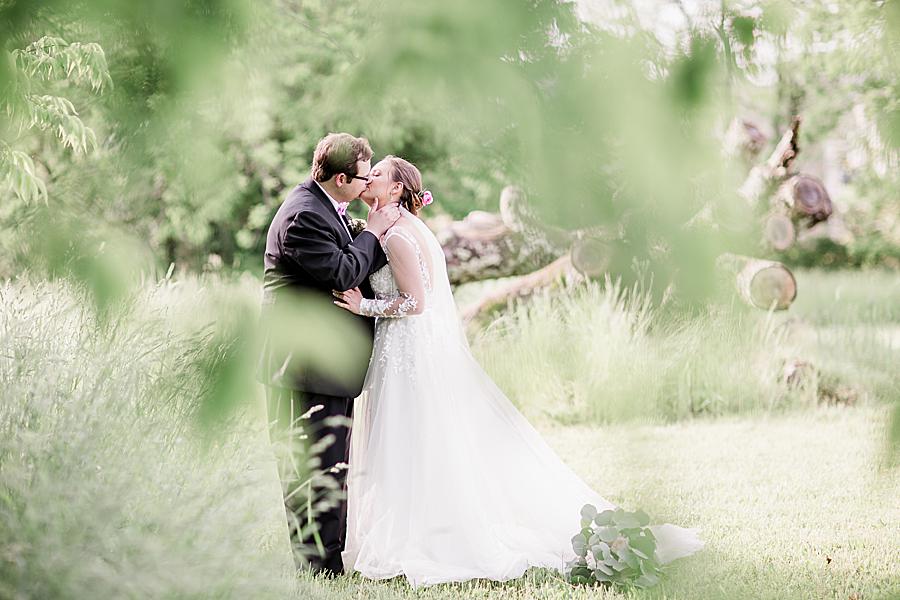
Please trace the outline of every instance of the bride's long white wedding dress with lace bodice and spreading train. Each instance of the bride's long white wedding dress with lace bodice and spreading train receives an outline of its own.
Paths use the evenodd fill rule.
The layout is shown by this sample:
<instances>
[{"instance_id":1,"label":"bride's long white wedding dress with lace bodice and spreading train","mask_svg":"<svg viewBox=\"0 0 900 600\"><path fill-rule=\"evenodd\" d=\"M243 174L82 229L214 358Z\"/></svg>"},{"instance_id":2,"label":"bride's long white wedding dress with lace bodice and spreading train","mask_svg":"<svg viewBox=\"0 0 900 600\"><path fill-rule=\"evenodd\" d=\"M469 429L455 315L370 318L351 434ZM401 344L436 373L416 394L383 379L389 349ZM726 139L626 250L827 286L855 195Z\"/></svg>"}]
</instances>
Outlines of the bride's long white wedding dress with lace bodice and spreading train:
<instances>
[{"instance_id":1,"label":"bride's long white wedding dress with lace bodice and spreading train","mask_svg":"<svg viewBox=\"0 0 900 600\"><path fill-rule=\"evenodd\" d=\"M581 507L614 505L547 445L473 358L444 254L407 211L382 239L389 264L365 303L376 321L356 400L345 569L414 586L520 577L574 558ZM697 532L657 525L662 562Z\"/></svg>"}]
</instances>

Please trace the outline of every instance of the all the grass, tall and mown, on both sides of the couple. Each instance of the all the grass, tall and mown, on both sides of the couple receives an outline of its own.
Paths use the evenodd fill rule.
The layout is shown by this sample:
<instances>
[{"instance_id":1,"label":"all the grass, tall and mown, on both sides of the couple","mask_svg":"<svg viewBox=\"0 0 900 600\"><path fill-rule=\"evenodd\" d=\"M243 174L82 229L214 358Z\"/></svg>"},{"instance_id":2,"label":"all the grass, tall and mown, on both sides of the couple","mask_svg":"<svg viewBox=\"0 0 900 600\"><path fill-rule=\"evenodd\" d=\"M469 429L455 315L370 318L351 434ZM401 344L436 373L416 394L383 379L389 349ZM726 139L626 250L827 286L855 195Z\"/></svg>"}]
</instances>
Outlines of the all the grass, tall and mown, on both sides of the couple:
<instances>
[{"instance_id":1,"label":"all the grass, tall and mown, on both sides of the couple","mask_svg":"<svg viewBox=\"0 0 900 600\"><path fill-rule=\"evenodd\" d=\"M594 288L519 307L473 339L598 492L702 530L704 551L625 596L900 597L886 433L900 283L798 281L778 315L666 323ZM210 379L257 302L255 282L189 279L148 285L98 319L65 285L0 283L0 598L622 597L548 571L424 590L298 576L261 404L248 402L252 369L224 363L237 369L228 388ZM854 402L822 403L817 379L786 387L791 357L853 388ZM249 410L201 426L235 402Z\"/></svg>"}]
</instances>

